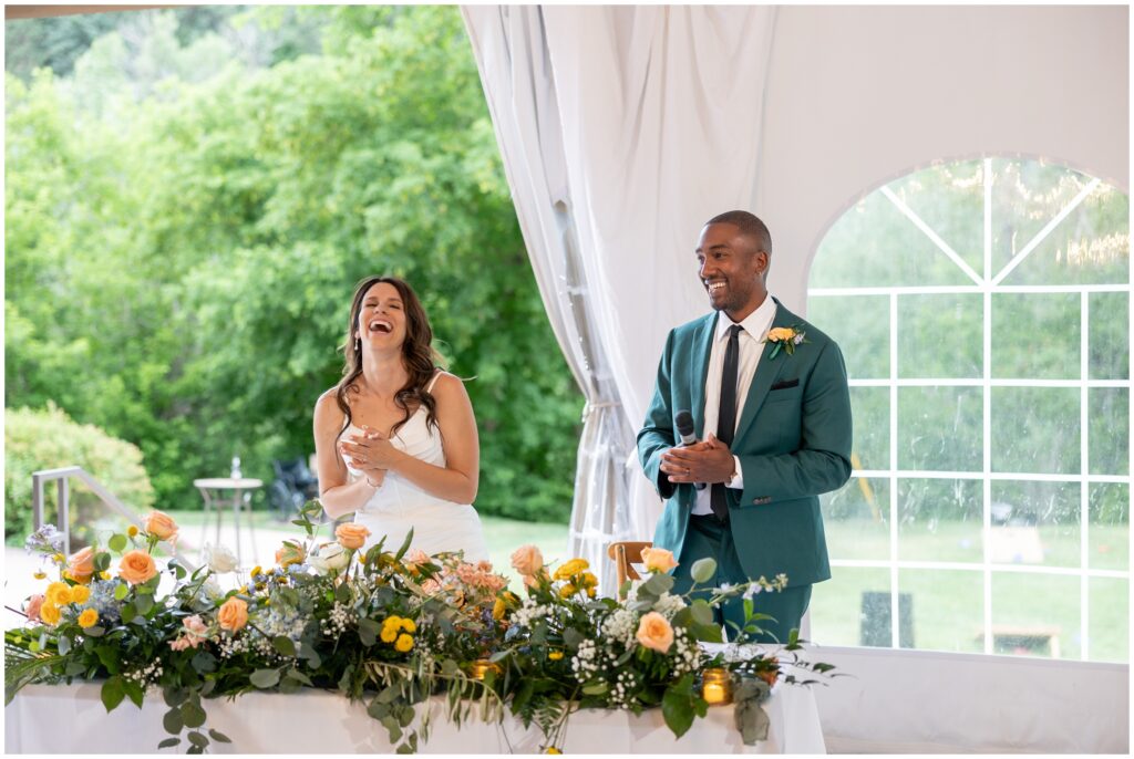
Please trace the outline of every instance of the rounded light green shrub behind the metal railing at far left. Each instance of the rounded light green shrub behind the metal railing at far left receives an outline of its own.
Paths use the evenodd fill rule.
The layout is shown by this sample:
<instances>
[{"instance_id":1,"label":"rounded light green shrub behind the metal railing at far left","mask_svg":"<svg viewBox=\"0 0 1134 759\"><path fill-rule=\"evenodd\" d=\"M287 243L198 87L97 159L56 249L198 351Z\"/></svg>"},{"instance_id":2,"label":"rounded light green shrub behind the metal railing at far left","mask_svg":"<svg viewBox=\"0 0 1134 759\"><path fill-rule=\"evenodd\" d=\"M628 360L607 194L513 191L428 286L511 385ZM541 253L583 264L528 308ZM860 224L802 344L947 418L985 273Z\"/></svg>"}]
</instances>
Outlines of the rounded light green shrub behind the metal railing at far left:
<instances>
[{"instance_id":1,"label":"rounded light green shrub behind the metal railing at far left","mask_svg":"<svg viewBox=\"0 0 1134 759\"><path fill-rule=\"evenodd\" d=\"M5 539L23 540L32 530L32 472L82 467L137 511L153 505L153 487L136 445L81 425L49 402L43 410L5 410ZM82 539L85 522L98 513L99 496L71 480L71 529ZM56 513L56 486L44 488L44 515ZM73 547L77 540L73 539Z\"/></svg>"}]
</instances>

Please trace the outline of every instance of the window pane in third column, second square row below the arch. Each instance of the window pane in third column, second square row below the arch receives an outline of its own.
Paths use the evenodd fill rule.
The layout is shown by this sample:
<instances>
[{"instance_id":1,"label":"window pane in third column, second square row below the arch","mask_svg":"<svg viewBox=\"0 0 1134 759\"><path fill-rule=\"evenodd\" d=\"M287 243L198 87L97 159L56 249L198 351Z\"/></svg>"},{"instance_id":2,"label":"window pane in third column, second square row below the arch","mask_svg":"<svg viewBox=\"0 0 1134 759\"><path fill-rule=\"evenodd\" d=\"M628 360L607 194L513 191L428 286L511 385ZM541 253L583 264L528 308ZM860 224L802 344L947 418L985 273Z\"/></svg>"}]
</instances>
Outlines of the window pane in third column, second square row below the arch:
<instances>
[{"instance_id":1,"label":"window pane in third column, second square row below the arch","mask_svg":"<svg viewBox=\"0 0 1134 759\"><path fill-rule=\"evenodd\" d=\"M992 471L1077 475L1080 395L1077 387L993 387Z\"/></svg>"}]
</instances>

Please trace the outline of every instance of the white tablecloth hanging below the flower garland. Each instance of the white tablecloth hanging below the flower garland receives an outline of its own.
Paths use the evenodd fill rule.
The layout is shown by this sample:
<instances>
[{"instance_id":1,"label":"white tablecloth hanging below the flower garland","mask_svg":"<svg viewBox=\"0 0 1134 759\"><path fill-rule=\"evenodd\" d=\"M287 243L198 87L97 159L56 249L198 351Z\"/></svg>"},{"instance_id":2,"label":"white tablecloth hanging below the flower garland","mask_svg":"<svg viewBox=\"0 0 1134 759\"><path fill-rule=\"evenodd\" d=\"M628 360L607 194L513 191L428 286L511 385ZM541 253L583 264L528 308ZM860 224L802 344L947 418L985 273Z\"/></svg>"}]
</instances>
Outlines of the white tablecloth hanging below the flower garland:
<instances>
[{"instance_id":1,"label":"white tablecloth hanging below the flower garland","mask_svg":"<svg viewBox=\"0 0 1134 759\"><path fill-rule=\"evenodd\" d=\"M124 701L109 715L99 699L100 683L28 685L5 709L7 753L154 753L169 737L161 717L160 693L142 709ZM508 715L502 725L475 716L459 728L433 699L431 734L420 753L534 753L543 742L534 725L525 728ZM390 752L386 728L361 703L341 696L305 690L296 694L246 693L235 701L203 701L206 727L232 743L213 743L213 753L362 753ZM422 707L418 706L418 710ZM813 693L806 688L777 685L764 703L771 719L768 740L746 747L733 722L733 707L710 708L704 719L675 740L660 709L641 717L627 711L592 709L572 715L567 753L826 753ZM181 744L163 753L183 753Z\"/></svg>"}]
</instances>

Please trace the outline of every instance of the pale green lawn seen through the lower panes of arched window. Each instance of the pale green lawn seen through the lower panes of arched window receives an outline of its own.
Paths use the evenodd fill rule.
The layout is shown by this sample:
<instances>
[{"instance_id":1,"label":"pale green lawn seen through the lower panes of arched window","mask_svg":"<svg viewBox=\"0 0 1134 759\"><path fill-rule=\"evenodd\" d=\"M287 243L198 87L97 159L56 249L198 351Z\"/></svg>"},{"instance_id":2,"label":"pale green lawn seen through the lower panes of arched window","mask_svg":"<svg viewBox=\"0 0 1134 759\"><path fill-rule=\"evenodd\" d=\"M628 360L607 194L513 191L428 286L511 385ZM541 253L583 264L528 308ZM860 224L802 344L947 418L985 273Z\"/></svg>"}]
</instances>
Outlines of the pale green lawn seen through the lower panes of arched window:
<instances>
[{"instance_id":1,"label":"pale green lawn seen through the lower panes of arched window","mask_svg":"<svg viewBox=\"0 0 1134 759\"><path fill-rule=\"evenodd\" d=\"M1036 528L1042 564L1080 565L1077 526ZM889 527L869 520L828 520L832 560L887 560ZM1010 543L1009 543L1010 545ZM1008 552L1010 553L1010 551ZM899 560L942 562L982 561L979 523L938 522L899 529ZM1033 556L1032 558L1035 558ZM1088 552L1095 569L1129 566L1129 529L1125 525L1092 525ZM1025 563L1023 561L1018 563ZM887 569L835 566L833 578L815 586L811 603L812 638L833 646L857 646L862 640L863 594L890 591ZM947 651L983 650L983 574L966 570L900 570L898 591L908 594L913 614L913 645ZM1088 582L1088 632L1091 659L1128 658L1128 581L1091 578ZM1035 631L1058 637L1059 656L1082 655L1080 579L1018 572L992 573L993 633Z\"/></svg>"}]
</instances>

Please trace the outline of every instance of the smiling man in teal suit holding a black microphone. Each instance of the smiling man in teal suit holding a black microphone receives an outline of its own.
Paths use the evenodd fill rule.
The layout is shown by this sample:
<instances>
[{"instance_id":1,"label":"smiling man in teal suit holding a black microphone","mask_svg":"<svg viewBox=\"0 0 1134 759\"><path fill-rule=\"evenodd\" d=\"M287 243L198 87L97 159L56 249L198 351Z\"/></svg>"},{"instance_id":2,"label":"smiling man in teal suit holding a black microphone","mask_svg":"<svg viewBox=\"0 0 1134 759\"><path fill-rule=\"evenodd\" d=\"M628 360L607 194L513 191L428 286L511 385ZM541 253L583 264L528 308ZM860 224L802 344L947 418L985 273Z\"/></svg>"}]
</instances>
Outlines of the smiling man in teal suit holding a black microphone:
<instances>
[{"instance_id":1,"label":"smiling man in teal suit holding a black microphone","mask_svg":"<svg viewBox=\"0 0 1134 759\"><path fill-rule=\"evenodd\" d=\"M850 395L838 346L768 295L771 251L768 228L745 211L701 230L713 313L670 331L637 447L667 498L653 540L679 562L674 592L689 589L705 556L717 560L712 585L785 573L786 590L753 600L776 620L759 623L762 640L786 642L811 585L831 575L819 495L850 477ZM686 409L699 442L675 447L674 417ZM717 614L743 624L743 602Z\"/></svg>"}]
</instances>

